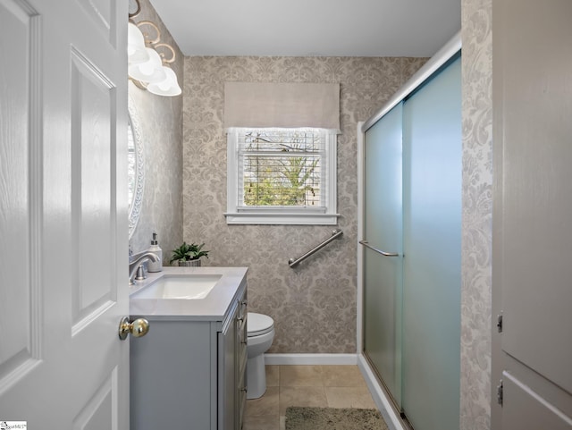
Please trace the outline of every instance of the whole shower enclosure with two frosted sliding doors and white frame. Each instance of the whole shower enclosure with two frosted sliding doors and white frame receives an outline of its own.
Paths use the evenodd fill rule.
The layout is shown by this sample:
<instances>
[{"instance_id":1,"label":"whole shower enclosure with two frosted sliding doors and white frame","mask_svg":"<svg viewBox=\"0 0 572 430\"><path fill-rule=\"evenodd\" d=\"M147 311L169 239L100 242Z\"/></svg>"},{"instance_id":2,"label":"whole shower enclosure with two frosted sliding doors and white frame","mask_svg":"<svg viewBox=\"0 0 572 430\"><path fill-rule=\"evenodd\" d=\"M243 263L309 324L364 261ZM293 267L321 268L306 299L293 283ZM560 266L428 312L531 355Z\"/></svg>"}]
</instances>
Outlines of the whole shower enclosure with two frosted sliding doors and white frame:
<instances>
[{"instance_id":1,"label":"whole shower enclosure with two frosted sliding doors and white frame","mask_svg":"<svg viewBox=\"0 0 572 430\"><path fill-rule=\"evenodd\" d=\"M361 352L408 425L455 430L460 38L444 46L361 131Z\"/></svg>"}]
</instances>

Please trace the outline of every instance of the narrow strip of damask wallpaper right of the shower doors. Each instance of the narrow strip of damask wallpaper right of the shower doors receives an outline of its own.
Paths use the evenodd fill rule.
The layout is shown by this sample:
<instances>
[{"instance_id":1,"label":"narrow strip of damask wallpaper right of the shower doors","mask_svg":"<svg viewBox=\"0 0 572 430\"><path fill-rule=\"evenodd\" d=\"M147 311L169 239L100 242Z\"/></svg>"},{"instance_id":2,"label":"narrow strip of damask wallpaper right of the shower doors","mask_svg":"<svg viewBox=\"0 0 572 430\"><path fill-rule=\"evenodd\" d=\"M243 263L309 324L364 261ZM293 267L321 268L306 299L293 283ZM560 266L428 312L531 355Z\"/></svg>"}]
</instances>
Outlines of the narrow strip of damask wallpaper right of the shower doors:
<instances>
[{"instance_id":1,"label":"narrow strip of damask wallpaper right of the shower doors","mask_svg":"<svg viewBox=\"0 0 572 430\"><path fill-rule=\"evenodd\" d=\"M492 0L462 0L460 428L491 427Z\"/></svg>"}]
</instances>

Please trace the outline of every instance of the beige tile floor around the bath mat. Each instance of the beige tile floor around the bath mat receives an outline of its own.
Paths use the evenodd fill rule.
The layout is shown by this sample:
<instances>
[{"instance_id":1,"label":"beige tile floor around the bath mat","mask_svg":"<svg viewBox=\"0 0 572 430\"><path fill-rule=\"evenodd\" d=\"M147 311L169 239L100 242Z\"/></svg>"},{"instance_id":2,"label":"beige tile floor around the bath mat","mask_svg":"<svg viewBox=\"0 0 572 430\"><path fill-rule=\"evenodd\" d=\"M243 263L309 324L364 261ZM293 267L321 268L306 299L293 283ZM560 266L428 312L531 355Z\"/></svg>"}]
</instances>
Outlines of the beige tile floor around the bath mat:
<instances>
[{"instance_id":1,"label":"beige tile floor around the bath mat","mask_svg":"<svg viewBox=\"0 0 572 430\"><path fill-rule=\"evenodd\" d=\"M288 406L375 408L357 366L266 366L266 392L247 400L242 430L283 430Z\"/></svg>"}]
</instances>

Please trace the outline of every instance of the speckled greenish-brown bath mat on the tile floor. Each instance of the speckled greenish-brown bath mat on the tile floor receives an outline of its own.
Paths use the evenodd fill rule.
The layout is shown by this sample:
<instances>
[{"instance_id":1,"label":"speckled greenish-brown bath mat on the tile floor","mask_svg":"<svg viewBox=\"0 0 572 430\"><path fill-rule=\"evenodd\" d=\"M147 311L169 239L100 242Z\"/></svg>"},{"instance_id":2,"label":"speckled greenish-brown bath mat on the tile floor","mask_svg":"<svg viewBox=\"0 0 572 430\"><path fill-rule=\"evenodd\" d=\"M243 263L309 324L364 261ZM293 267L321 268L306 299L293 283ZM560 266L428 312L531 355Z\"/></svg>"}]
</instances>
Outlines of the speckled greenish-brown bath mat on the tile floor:
<instances>
[{"instance_id":1,"label":"speckled greenish-brown bath mat on the tile floor","mask_svg":"<svg viewBox=\"0 0 572 430\"><path fill-rule=\"evenodd\" d=\"M286 430L388 430L375 409L286 408Z\"/></svg>"}]
</instances>

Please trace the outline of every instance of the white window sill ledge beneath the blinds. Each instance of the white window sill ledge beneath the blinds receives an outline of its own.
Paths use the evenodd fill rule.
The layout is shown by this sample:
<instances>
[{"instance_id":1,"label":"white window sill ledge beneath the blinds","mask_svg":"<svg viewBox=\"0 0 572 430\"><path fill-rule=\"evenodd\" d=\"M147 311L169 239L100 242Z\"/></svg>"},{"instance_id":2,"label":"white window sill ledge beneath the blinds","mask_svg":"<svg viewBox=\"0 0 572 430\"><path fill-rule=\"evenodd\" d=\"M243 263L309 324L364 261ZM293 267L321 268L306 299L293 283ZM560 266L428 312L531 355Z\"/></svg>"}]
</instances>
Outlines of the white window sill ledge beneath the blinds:
<instances>
[{"instance_id":1,"label":"white window sill ledge beneath the blinds","mask_svg":"<svg viewBox=\"0 0 572 430\"><path fill-rule=\"evenodd\" d=\"M336 225L340 214L225 213L227 224Z\"/></svg>"}]
</instances>

